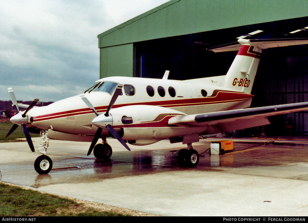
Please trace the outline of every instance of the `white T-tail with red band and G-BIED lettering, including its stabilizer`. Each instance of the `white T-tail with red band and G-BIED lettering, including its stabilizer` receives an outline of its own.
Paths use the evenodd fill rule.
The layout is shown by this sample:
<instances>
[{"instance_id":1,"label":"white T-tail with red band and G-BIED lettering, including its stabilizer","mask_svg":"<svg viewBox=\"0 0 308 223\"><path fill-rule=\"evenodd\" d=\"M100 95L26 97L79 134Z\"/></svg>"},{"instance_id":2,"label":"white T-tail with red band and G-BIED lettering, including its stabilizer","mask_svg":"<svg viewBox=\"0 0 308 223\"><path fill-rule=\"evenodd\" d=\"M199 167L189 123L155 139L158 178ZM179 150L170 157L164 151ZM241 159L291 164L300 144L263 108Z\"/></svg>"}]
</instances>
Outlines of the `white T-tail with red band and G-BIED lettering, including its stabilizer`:
<instances>
[{"instance_id":1,"label":"white T-tail with red band and G-BIED lettering, including its stabilizer","mask_svg":"<svg viewBox=\"0 0 308 223\"><path fill-rule=\"evenodd\" d=\"M222 45L208 50L238 53L225 76L224 87L234 91L251 93L262 49L308 44L308 38L301 39L239 39L238 42Z\"/></svg>"}]
</instances>

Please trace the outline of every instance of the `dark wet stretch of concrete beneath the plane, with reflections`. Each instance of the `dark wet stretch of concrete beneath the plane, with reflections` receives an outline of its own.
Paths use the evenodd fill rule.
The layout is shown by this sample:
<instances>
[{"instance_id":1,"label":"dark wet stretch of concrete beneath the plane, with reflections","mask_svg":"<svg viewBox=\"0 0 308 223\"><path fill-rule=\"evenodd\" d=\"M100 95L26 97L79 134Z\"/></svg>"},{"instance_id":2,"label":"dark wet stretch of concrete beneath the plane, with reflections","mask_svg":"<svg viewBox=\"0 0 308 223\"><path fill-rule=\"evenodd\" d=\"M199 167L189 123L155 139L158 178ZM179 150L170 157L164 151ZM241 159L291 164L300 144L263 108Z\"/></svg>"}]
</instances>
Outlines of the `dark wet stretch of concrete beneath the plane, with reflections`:
<instances>
[{"instance_id":1,"label":"dark wet stretch of concrete beneath the plane, with reflections","mask_svg":"<svg viewBox=\"0 0 308 223\"><path fill-rule=\"evenodd\" d=\"M201 145L200 145L201 144ZM53 170L46 175L37 175L31 186L40 187L53 183L95 182L103 179L136 176L140 174L154 174L174 170L194 171L224 171L228 173L242 173L249 175L269 174L261 173L258 167L273 168L276 166L280 173L289 171L294 165L308 163L306 146L289 146L286 144L265 145L264 143L234 143L234 151L223 155L209 155L206 143L194 146L200 155L199 164L194 168L181 168L174 152L170 150L132 151L114 153L110 160L100 160L89 157L75 157L54 161ZM206 151L204 153L204 151ZM245 173L255 167L255 173ZM308 165L301 167L302 175L308 173ZM305 172L307 170L307 172ZM274 174L274 173L272 173ZM296 174L295 174L296 175ZM286 176L288 177L288 176ZM292 178L292 176L290 176ZM304 176L302 180L308 180Z\"/></svg>"}]
</instances>

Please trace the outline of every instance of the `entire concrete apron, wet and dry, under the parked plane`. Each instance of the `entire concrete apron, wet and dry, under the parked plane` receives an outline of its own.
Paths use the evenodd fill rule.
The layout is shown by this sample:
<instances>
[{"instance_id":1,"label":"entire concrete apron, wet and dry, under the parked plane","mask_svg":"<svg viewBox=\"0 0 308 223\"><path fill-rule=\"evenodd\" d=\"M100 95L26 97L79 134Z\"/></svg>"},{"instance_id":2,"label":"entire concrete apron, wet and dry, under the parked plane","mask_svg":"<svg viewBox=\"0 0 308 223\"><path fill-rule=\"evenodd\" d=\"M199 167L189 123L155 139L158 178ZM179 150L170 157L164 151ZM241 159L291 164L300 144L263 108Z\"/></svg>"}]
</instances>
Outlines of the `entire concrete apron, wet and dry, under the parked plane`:
<instances>
[{"instance_id":1,"label":"entire concrete apron, wet and dry, under the parked plane","mask_svg":"<svg viewBox=\"0 0 308 223\"><path fill-rule=\"evenodd\" d=\"M214 139L207 140L193 143L200 154L193 168L181 168L173 157L172 151L185 145L170 145L167 140L132 147L130 152L109 140L114 149L110 160L87 156L88 143L56 141L48 151L53 169L44 175L34 170L38 153L26 143L1 143L1 181L167 216L307 213L302 196L308 189L307 140L300 144L234 140L234 151L223 155L210 155Z\"/></svg>"}]
</instances>

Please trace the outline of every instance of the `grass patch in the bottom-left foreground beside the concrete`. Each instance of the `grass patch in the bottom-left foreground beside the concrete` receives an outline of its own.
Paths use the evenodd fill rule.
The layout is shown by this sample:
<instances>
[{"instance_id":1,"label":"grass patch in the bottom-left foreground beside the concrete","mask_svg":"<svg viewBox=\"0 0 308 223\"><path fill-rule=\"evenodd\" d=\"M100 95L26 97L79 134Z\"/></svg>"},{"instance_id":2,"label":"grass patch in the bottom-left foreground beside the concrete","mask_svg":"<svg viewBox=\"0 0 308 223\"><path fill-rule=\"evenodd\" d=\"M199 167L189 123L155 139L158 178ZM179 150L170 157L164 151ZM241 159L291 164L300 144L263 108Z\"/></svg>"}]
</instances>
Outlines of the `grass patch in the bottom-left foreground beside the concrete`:
<instances>
[{"instance_id":1,"label":"grass patch in the bottom-left foreground beside the concrete","mask_svg":"<svg viewBox=\"0 0 308 223\"><path fill-rule=\"evenodd\" d=\"M0 216L131 216L90 209L82 203L0 182Z\"/></svg>"}]
</instances>

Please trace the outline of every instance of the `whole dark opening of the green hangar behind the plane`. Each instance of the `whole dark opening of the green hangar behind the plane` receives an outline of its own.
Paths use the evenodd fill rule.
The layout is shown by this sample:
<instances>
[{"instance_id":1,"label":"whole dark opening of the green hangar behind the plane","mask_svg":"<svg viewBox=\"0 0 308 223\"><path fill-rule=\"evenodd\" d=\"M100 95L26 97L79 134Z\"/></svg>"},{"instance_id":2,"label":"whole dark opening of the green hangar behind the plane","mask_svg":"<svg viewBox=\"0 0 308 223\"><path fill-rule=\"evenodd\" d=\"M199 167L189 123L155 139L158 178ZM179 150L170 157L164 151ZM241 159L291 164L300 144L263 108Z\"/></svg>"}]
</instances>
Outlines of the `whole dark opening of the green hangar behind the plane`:
<instances>
[{"instance_id":1,"label":"whole dark opening of the green hangar behind the plane","mask_svg":"<svg viewBox=\"0 0 308 223\"><path fill-rule=\"evenodd\" d=\"M135 76L186 80L225 75L237 52L213 53L207 48L246 39L307 38L308 17L245 25L135 43ZM256 30L262 32L249 35ZM300 30L300 31L298 31ZM296 32L293 32L296 31ZM308 46L266 49L253 85L251 107L308 101ZM265 126L271 135L308 135L307 111L277 115ZM292 122L292 128L287 129Z\"/></svg>"}]
</instances>

